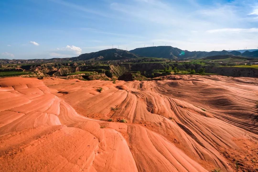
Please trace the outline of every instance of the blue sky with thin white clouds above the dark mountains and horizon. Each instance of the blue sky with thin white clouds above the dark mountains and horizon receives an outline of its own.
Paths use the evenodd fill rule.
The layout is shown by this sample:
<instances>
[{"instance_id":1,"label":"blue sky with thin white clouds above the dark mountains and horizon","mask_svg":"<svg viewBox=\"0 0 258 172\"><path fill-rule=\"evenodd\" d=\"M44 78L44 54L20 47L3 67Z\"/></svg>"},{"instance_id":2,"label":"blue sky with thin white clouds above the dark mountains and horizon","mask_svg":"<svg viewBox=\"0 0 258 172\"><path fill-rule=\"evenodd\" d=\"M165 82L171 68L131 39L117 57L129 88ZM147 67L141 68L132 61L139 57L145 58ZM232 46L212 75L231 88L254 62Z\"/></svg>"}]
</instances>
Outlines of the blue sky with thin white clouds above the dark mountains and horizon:
<instances>
[{"instance_id":1,"label":"blue sky with thin white clouds above the dark mountains and horizon","mask_svg":"<svg viewBox=\"0 0 258 172\"><path fill-rule=\"evenodd\" d=\"M169 45L256 49L258 0L0 0L0 58Z\"/></svg>"}]
</instances>

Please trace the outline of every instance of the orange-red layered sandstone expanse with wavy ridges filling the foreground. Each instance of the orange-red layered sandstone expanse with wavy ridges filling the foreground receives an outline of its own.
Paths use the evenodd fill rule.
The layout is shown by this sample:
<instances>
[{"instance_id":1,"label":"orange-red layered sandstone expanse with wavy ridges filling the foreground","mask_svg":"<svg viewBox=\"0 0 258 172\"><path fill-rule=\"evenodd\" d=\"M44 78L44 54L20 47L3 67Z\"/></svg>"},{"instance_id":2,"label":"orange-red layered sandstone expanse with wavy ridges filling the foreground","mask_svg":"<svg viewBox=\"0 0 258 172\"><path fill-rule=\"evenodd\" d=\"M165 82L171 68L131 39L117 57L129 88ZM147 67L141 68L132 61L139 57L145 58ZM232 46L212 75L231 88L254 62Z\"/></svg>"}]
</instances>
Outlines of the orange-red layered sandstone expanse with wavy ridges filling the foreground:
<instances>
[{"instance_id":1,"label":"orange-red layered sandstone expanse with wavy ridges filling the foreground","mask_svg":"<svg viewBox=\"0 0 258 172\"><path fill-rule=\"evenodd\" d=\"M257 100L257 78L2 78L0 171L256 171Z\"/></svg>"}]
</instances>

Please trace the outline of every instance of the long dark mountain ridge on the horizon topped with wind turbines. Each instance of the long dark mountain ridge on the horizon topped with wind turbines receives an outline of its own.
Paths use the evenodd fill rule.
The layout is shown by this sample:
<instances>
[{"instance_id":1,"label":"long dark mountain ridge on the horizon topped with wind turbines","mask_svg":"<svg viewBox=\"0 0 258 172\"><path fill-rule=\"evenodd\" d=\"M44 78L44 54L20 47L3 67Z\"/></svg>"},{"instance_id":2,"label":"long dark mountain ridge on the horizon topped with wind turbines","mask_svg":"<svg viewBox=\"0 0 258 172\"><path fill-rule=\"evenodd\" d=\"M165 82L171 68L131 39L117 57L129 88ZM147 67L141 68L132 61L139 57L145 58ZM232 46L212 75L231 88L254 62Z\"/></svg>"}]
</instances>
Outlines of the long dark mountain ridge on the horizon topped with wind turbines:
<instances>
[{"instance_id":1,"label":"long dark mountain ridge on the horizon topped with wind turbines","mask_svg":"<svg viewBox=\"0 0 258 172\"><path fill-rule=\"evenodd\" d=\"M0 64L23 64L23 63L55 63L55 62L76 62L76 61L114 61L114 60L128 60L138 59L142 57L156 57L168 58L174 60L184 59L199 59L210 56L241 56L247 58L258 58L257 51L246 50L243 53L239 51L188 51L171 46L157 46L157 47L144 47L136 48L134 50L126 51L122 49L105 49L92 53L81 54L77 57L70 58L51 58L51 59L0 59Z\"/></svg>"}]
</instances>

